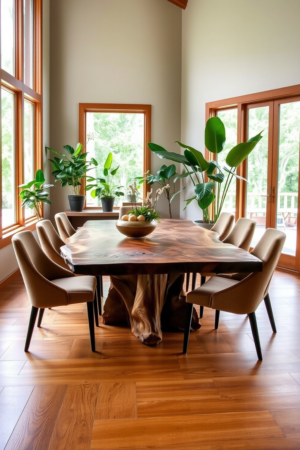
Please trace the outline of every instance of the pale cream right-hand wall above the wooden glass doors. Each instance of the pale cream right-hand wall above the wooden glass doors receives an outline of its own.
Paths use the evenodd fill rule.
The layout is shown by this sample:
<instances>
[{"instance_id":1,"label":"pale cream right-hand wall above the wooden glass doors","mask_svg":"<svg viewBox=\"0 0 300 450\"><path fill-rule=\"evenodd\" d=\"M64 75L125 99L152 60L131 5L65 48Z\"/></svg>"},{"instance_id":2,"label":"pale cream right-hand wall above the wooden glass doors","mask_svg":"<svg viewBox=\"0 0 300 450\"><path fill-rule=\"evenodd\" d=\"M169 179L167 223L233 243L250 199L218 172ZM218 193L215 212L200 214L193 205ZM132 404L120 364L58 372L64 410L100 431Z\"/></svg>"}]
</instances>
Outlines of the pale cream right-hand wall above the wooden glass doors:
<instances>
[{"instance_id":1,"label":"pale cream right-hand wall above the wooden glass doors","mask_svg":"<svg viewBox=\"0 0 300 450\"><path fill-rule=\"evenodd\" d=\"M300 83L299 17L299 0L188 0L182 142L204 150L206 102ZM185 212L201 219L196 203Z\"/></svg>"}]
</instances>

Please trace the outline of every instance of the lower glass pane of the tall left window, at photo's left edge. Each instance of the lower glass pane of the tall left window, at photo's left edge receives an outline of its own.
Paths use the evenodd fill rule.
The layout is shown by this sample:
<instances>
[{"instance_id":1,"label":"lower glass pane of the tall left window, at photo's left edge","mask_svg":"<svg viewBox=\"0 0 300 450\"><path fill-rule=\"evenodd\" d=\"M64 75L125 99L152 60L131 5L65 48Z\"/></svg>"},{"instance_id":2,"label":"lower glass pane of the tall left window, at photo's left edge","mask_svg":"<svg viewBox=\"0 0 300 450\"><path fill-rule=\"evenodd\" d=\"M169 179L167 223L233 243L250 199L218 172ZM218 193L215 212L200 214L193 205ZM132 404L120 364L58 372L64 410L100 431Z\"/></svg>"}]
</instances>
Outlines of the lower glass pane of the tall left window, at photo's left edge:
<instances>
[{"instance_id":1,"label":"lower glass pane of the tall left window, at photo's left edge","mask_svg":"<svg viewBox=\"0 0 300 450\"><path fill-rule=\"evenodd\" d=\"M16 222L15 96L1 88L2 227Z\"/></svg>"}]
</instances>

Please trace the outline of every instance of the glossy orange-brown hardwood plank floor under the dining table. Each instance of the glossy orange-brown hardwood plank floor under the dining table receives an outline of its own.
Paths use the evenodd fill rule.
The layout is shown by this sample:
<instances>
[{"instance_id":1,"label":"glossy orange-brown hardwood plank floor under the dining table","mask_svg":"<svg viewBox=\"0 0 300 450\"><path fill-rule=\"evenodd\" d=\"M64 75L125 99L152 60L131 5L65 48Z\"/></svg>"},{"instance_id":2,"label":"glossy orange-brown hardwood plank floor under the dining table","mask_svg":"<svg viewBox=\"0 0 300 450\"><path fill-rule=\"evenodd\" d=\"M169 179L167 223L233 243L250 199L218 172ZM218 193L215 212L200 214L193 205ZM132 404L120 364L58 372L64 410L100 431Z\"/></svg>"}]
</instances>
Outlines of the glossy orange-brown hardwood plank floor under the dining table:
<instances>
[{"instance_id":1,"label":"glossy orange-brown hardwood plank floor under the dining table","mask_svg":"<svg viewBox=\"0 0 300 450\"><path fill-rule=\"evenodd\" d=\"M15 279L0 293L0 450L300 450L300 277L276 270L269 294L263 361L247 316L221 312L215 330L208 308L187 355L183 333L146 347L101 323L92 353L85 305L45 310L24 353L31 306Z\"/></svg>"}]
</instances>

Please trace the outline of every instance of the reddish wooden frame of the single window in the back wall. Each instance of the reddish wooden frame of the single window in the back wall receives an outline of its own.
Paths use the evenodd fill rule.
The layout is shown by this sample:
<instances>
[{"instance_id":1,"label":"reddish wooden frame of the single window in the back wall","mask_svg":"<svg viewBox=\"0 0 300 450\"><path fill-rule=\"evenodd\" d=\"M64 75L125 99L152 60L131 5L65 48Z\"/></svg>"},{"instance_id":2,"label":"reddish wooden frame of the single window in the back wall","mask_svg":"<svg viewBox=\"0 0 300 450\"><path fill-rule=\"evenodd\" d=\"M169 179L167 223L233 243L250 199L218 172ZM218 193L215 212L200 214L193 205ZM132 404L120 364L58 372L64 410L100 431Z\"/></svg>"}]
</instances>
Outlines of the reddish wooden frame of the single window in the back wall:
<instances>
[{"instance_id":1,"label":"reddish wooden frame of the single window in the back wall","mask_svg":"<svg viewBox=\"0 0 300 450\"><path fill-rule=\"evenodd\" d=\"M148 142L151 142L151 105L126 104L126 103L79 103L79 142L86 142L86 112L127 112L144 114L144 149L143 149L143 172L151 171L151 151ZM81 186L81 194L85 195L85 182ZM150 191L150 186L144 184L144 198ZM114 209L118 209L115 207ZM85 210L101 210L102 207L86 207Z\"/></svg>"}]
</instances>

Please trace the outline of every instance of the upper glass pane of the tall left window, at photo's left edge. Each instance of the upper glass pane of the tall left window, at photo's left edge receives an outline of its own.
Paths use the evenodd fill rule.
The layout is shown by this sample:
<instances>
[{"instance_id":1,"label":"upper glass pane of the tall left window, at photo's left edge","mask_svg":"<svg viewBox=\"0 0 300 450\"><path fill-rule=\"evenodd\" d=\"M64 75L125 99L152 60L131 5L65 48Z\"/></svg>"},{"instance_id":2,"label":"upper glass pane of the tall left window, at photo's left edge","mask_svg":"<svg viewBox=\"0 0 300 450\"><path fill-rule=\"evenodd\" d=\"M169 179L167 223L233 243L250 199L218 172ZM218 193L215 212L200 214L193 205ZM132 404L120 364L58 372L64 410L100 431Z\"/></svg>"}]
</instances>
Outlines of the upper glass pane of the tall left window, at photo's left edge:
<instances>
[{"instance_id":1,"label":"upper glass pane of the tall left window, at photo's left edge","mask_svg":"<svg viewBox=\"0 0 300 450\"><path fill-rule=\"evenodd\" d=\"M1 68L15 76L14 0L1 0Z\"/></svg>"}]
</instances>

